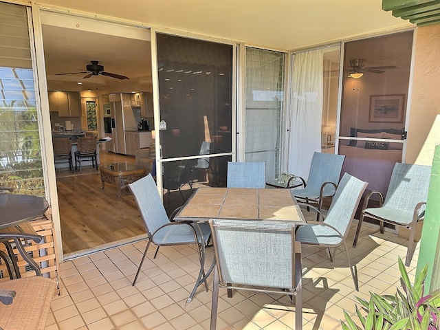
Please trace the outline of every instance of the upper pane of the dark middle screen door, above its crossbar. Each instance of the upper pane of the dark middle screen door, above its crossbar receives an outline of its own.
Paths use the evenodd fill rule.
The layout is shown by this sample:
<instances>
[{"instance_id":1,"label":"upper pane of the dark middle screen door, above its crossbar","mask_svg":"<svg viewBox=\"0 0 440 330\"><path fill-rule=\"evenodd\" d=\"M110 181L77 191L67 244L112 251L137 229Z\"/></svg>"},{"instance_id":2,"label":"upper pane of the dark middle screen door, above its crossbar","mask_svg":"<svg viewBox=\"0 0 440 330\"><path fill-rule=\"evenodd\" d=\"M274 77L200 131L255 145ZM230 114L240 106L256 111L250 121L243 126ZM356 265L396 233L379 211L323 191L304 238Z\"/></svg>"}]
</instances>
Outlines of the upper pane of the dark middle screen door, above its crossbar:
<instances>
[{"instance_id":1,"label":"upper pane of the dark middle screen door, above its crossbar","mask_svg":"<svg viewBox=\"0 0 440 330\"><path fill-rule=\"evenodd\" d=\"M232 45L157 34L162 157L231 152Z\"/></svg>"}]
</instances>

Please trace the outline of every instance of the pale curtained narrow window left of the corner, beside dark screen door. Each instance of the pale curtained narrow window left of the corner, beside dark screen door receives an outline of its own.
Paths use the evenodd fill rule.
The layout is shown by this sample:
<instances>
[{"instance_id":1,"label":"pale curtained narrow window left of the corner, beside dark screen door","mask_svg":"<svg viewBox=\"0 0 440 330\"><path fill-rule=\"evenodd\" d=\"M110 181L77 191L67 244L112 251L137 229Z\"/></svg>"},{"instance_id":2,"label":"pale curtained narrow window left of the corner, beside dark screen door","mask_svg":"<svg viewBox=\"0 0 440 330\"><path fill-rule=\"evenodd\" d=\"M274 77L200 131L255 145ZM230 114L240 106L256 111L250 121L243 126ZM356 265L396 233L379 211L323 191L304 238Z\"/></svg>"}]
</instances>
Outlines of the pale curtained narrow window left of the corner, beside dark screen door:
<instances>
[{"instance_id":1,"label":"pale curtained narrow window left of the corner, beside dark screen door","mask_svg":"<svg viewBox=\"0 0 440 330\"><path fill-rule=\"evenodd\" d=\"M285 54L246 48L245 162L265 162L266 179L279 172Z\"/></svg>"}]
</instances>

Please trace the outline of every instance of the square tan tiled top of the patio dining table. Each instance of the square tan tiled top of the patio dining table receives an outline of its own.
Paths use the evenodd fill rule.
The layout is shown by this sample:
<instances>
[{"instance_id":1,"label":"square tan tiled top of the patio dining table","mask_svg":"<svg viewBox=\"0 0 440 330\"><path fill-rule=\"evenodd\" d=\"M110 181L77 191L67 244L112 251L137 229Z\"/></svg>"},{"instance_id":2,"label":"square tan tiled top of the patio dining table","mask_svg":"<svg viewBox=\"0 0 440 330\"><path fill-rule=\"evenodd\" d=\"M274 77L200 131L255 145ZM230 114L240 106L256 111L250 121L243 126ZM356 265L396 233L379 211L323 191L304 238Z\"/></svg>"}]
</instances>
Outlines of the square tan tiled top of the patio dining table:
<instances>
[{"instance_id":1,"label":"square tan tiled top of the patio dining table","mask_svg":"<svg viewBox=\"0 0 440 330\"><path fill-rule=\"evenodd\" d=\"M259 219L305 223L288 189L199 188L175 217L176 221Z\"/></svg>"}]
</instances>

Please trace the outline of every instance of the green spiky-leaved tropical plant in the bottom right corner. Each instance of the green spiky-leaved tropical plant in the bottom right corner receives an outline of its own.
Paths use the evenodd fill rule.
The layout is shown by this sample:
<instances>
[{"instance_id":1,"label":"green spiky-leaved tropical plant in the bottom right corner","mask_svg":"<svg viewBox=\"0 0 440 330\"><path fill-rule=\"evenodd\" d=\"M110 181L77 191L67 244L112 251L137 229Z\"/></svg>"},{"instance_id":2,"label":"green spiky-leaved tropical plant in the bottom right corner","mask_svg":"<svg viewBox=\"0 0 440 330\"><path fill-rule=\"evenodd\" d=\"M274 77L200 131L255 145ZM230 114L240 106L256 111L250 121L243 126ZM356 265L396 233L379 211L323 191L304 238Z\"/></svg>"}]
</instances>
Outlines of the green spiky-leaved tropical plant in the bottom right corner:
<instances>
[{"instance_id":1,"label":"green spiky-leaved tropical plant in the bottom right corner","mask_svg":"<svg viewBox=\"0 0 440 330\"><path fill-rule=\"evenodd\" d=\"M423 296L428 265L411 285L408 272L399 258L400 283L403 289L397 289L394 296L370 292L370 300L356 297L361 308L367 313L363 316L358 306L356 314L362 327L356 325L344 310L346 322L341 321L344 330L437 330L440 322L440 289Z\"/></svg>"}]
</instances>

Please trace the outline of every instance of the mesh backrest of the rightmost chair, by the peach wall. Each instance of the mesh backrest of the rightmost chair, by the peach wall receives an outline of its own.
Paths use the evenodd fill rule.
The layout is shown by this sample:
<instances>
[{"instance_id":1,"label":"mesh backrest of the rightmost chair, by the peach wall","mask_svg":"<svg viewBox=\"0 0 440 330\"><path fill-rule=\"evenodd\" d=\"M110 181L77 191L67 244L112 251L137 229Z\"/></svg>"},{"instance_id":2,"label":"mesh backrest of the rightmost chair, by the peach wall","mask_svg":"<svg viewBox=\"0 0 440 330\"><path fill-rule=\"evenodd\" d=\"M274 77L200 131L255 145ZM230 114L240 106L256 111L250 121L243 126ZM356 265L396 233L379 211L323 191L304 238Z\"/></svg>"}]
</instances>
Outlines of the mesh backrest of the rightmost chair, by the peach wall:
<instances>
[{"instance_id":1,"label":"mesh backrest of the rightmost chair, by the peach wall","mask_svg":"<svg viewBox=\"0 0 440 330\"><path fill-rule=\"evenodd\" d=\"M396 163L383 207L412 217L417 203L428 198L430 175L431 166Z\"/></svg>"}]
</instances>

